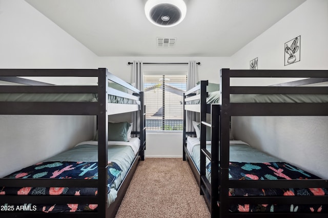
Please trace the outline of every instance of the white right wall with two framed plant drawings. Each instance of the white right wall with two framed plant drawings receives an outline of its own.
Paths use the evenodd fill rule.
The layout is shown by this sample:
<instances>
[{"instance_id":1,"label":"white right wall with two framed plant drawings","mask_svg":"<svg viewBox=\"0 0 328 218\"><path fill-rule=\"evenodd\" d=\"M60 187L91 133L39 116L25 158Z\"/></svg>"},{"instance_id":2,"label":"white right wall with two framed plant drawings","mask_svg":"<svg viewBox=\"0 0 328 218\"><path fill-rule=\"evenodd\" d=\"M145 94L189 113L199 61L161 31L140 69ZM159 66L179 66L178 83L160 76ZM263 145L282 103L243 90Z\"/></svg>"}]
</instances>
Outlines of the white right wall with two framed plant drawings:
<instances>
[{"instance_id":1,"label":"white right wall with two framed plant drawings","mask_svg":"<svg viewBox=\"0 0 328 218\"><path fill-rule=\"evenodd\" d=\"M301 36L300 61L284 66L284 43ZM233 69L328 69L328 1L308 0L232 56ZM260 82L261 83L261 82ZM233 135L328 178L328 117L234 117Z\"/></svg>"}]
</instances>

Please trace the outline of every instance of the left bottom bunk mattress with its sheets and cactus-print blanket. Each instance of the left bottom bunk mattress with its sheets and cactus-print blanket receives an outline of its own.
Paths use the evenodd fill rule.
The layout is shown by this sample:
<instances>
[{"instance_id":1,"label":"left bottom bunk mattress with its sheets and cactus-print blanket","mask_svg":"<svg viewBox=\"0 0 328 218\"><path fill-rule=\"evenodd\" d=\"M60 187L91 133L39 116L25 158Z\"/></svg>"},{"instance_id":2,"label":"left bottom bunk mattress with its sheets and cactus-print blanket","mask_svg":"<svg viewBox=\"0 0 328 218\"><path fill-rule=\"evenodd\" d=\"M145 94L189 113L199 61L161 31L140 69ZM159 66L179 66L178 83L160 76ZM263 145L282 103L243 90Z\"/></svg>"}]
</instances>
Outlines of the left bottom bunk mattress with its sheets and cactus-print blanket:
<instances>
[{"instance_id":1,"label":"left bottom bunk mattress with its sheets and cactus-print blanket","mask_svg":"<svg viewBox=\"0 0 328 218\"><path fill-rule=\"evenodd\" d=\"M6 178L98 179L97 141L81 142L41 163L11 173ZM117 197L117 190L133 163L140 146L139 138L128 142L108 142L108 206ZM97 188L75 187L0 187L2 195L97 195ZM6 206L6 203L2 205ZM21 204L26 205L26 204ZM15 206L21 206L15 205ZM75 212L96 211L96 204L31 205L33 211ZM31 207L30 206L30 207Z\"/></svg>"}]
</instances>

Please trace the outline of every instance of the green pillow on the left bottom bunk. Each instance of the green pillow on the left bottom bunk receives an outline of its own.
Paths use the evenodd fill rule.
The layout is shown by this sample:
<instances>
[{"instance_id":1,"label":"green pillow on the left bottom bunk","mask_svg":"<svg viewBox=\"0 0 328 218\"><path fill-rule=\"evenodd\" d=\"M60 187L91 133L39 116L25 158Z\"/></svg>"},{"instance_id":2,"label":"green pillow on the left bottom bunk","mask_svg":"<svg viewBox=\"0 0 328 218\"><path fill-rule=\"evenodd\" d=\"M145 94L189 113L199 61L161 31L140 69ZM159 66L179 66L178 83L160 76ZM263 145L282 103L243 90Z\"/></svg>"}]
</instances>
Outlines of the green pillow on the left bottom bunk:
<instances>
[{"instance_id":1,"label":"green pillow on the left bottom bunk","mask_svg":"<svg viewBox=\"0 0 328 218\"><path fill-rule=\"evenodd\" d=\"M108 123L108 141L128 141L128 129L131 126L128 122ZM132 129L131 129L132 130ZM131 136L131 132L130 132ZM131 137L130 137L131 138ZM98 131L95 136L95 141L98 140Z\"/></svg>"}]
</instances>

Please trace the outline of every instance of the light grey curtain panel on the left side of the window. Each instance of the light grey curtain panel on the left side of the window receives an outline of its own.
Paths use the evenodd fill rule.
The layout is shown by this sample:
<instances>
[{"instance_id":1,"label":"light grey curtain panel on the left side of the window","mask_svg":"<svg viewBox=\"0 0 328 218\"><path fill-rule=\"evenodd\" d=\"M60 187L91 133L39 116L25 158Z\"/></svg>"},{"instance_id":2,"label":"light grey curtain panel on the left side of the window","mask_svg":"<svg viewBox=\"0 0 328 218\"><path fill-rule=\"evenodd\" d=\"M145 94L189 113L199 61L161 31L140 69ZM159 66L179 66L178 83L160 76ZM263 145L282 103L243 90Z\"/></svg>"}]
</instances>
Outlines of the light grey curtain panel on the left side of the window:
<instances>
[{"instance_id":1,"label":"light grey curtain panel on the left side of the window","mask_svg":"<svg viewBox=\"0 0 328 218\"><path fill-rule=\"evenodd\" d=\"M132 84L140 91L144 91L144 72L142 70L143 64L141 61L133 61L132 63ZM140 130L140 114L133 113L133 131Z\"/></svg>"}]
</instances>

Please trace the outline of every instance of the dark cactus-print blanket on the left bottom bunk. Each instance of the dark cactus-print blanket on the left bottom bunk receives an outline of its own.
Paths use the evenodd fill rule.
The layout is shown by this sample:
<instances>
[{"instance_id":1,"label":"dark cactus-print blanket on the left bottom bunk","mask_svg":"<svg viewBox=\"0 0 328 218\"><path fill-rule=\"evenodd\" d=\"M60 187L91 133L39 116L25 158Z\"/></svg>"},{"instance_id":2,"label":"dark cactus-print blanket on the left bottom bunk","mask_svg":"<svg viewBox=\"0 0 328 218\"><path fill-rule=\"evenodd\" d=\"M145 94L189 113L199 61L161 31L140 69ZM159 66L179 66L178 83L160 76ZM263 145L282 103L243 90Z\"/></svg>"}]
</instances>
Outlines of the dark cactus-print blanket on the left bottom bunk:
<instances>
[{"instance_id":1,"label":"dark cactus-print blanket on the left bottom bunk","mask_svg":"<svg viewBox=\"0 0 328 218\"><path fill-rule=\"evenodd\" d=\"M108 191L122 172L115 162L108 163ZM97 162L53 161L34 164L11 173L6 178L98 179ZM4 195L97 195L97 188L76 187L0 187ZM33 205L36 211L75 212L92 211L96 204Z\"/></svg>"}]
</instances>

